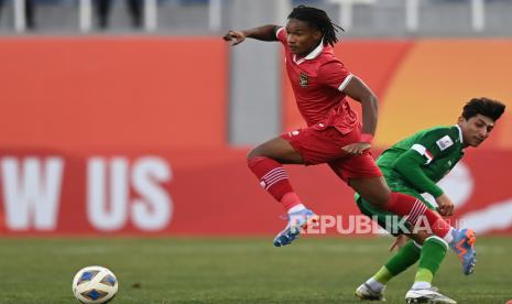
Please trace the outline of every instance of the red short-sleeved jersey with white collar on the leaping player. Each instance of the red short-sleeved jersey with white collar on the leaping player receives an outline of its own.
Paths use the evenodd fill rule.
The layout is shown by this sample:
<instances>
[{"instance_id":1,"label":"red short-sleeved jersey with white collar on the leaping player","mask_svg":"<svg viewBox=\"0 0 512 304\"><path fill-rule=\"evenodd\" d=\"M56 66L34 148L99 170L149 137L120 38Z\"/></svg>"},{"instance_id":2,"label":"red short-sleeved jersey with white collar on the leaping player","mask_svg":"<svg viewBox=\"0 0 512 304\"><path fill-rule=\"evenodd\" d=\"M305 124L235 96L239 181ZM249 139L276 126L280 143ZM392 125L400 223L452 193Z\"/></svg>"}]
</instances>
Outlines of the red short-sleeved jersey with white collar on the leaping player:
<instances>
[{"instance_id":1,"label":"red short-sleeved jersey with white collar on the leaping player","mask_svg":"<svg viewBox=\"0 0 512 304\"><path fill-rule=\"evenodd\" d=\"M335 57L330 45L320 43L299 58L290 51L286 35L285 28L276 32L277 40L284 45L286 72L298 110L307 126L333 126L342 134L349 133L359 126L358 116L342 93L352 74Z\"/></svg>"}]
</instances>

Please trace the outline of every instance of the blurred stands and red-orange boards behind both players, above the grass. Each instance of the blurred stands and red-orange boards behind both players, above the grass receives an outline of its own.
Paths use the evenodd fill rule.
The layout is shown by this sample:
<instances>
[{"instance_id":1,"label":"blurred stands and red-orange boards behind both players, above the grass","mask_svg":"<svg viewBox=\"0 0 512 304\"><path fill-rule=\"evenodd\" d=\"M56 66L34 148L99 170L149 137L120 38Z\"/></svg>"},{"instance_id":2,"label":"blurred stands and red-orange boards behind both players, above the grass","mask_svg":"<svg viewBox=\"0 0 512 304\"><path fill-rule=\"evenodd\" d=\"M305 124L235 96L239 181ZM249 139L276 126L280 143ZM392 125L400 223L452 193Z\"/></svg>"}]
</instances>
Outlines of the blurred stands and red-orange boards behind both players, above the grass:
<instances>
[{"instance_id":1,"label":"blurred stands and red-orange boards behind both players, above the grass","mask_svg":"<svg viewBox=\"0 0 512 304\"><path fill-rule=\"evenodd\" d=\"M279 43L221 36L294 6L346 29L336 55L380 98L377 156L512 106L512 0L0 1L0 235L273 235L281 207L246 153L302 127ZM358 105L355 105L358 107ZM479 234L512 232L512 115L442 186ZM319 214L358 214L324 166L290 169ZM258 225L248 225L258 219Z\"/></svg>"}]
</instances>

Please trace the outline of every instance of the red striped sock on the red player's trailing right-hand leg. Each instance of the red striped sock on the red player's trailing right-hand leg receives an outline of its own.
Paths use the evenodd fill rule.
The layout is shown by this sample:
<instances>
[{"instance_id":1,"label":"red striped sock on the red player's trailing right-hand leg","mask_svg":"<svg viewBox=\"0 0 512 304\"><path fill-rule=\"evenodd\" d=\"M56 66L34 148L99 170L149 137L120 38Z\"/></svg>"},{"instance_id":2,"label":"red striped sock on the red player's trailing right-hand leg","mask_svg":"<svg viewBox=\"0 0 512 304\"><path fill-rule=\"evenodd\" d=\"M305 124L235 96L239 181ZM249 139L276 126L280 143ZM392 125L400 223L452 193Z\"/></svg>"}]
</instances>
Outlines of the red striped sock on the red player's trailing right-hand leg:
<instances>
[{"instance_id":1,"label":"red striped sock on the red player's trailing right-hand leg","mask_svg":"<svg viewBox=\"0 0 512 304\"><path fill-rule=\"evenodd\" d=\"M445 238L451 228L443 217L428 209L423 202L405 194L392 192L384 208L399 216L407 216L407 221L412 225L416 225L418 219L424 216L432 231L440 238Z\"/></svg>"}]
</instances>

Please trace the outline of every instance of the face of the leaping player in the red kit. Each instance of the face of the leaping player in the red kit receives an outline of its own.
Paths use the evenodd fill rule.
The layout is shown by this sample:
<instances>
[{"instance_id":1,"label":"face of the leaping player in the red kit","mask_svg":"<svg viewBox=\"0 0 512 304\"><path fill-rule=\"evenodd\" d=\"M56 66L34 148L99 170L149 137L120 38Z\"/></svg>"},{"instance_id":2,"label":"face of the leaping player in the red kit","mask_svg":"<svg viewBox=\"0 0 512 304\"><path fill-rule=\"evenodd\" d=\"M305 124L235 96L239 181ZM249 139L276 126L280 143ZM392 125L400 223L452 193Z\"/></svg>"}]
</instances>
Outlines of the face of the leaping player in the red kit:
<instances>
[{"instance_id":1,"label":"face of the leaping player in the red kit","mask_svg":"<svg viewBox=\"0 0 512 304\"><path fill-rule=\"evenodd\" d=\"M297 19L288 20L286 32L290 50L299 56L309 54L322 41L320 31Z\"/></svg>"}]
</instances>

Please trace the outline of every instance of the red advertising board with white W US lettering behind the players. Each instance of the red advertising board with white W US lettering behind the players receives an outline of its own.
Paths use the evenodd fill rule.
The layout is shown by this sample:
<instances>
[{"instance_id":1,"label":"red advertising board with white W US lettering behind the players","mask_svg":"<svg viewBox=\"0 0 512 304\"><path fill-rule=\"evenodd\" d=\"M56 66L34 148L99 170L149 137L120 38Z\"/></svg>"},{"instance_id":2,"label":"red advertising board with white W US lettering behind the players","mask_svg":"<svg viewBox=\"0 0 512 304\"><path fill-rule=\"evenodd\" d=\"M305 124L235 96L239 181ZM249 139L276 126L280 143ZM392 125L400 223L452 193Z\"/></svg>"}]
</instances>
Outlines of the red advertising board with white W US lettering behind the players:
<instances>
[{"instance_id":1,"label":"red advertising board with white W US lettering behind the players","mask_svg":"<svg viewBox=\"0 0 512 304\"><path fill-rule=\"evenodd\" d=\"M0 234L274 234L285 224L283 211L247 169L246 153L4 151ZM511 152L468 153L442 183L457 206L454 219L479 234L512 232L512 189L503 169L511 162ZM338 216L347 227L348 216L359 214L352 191L327 166L287 169L297 193L319 215Z\"/></svg>"}]
</instances>

